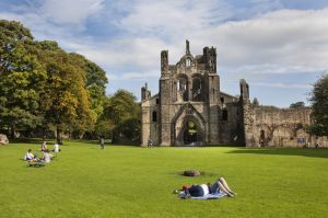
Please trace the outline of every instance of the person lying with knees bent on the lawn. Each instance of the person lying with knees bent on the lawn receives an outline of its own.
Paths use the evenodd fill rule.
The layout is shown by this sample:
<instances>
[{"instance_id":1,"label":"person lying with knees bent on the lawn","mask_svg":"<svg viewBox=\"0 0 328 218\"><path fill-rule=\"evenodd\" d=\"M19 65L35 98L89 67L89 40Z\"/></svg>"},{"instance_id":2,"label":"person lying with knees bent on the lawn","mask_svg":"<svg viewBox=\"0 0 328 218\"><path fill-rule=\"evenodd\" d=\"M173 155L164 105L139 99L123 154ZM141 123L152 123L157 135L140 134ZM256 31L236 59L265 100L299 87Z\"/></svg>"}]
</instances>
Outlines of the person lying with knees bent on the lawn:
<instances>
[{"instance_id":1,"label":"person lying with knees bent on the lawn","mask_svg":"<svg viewBox=\"0 0 328 218\"><path fill-rule=\"evenodd\" d=\"M210 183L201 184L201 185L191 185L191 186L184 185L183 191L187 196L191 196L191 197L200 197L200 196L214 194L214 193L225 193L229 197L234 197L236 195L229 187L224 177L220 177L212 185Z\"/></svg>"}]
</instances>

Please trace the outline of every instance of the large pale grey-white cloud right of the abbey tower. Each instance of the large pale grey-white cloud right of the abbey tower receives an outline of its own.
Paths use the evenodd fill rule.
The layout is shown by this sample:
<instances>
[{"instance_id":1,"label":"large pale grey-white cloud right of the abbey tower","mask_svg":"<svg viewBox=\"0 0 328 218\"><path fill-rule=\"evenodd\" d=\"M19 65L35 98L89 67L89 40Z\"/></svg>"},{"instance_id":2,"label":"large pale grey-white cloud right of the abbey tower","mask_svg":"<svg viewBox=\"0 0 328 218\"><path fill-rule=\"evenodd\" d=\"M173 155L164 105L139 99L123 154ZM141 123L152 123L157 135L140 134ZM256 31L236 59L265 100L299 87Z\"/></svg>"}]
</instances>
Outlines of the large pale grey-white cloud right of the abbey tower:
<instances>
[{"instance_id":1,"label":"large pale grey-white cloud right of the abbey tower","mask_svg":"<svg viewBox=\"0 0 328 218\"><path fill-rule=\"evenodd\" d=\"M219 62L229 67L271 65L281 68L327 68L328 9L281 10L257 19L209 30L219 44ZM274 67L276 66L276 67Z\"/></svg>"}]
</instances>

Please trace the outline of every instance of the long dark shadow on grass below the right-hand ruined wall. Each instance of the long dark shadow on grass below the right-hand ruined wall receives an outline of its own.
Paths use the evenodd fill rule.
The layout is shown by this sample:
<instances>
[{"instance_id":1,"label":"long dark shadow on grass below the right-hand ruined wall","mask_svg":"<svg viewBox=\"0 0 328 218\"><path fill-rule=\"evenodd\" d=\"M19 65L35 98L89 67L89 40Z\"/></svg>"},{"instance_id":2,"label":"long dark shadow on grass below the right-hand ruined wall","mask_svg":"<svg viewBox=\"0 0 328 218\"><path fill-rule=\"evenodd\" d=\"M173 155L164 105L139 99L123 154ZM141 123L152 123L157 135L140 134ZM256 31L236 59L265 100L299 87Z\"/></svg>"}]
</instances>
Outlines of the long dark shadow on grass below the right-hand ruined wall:
<instances>
[{"instance_id":1,"label":"long dark shadow on grass below the right-hand ruined wall","mask_svg":"<svg viewBox=\"0 0 328 218\"><path fill-rule=\"evenodd\" d=\"M226 153L251 153L269 156L303 156L311 158L328 158L328 149L304 149L304 148L241 148Z\"/></svg>"}]
</instances>

